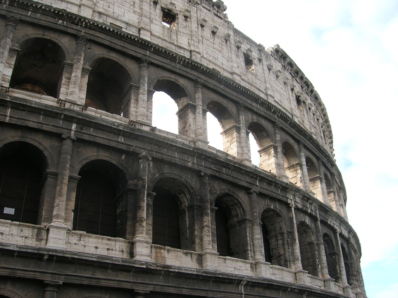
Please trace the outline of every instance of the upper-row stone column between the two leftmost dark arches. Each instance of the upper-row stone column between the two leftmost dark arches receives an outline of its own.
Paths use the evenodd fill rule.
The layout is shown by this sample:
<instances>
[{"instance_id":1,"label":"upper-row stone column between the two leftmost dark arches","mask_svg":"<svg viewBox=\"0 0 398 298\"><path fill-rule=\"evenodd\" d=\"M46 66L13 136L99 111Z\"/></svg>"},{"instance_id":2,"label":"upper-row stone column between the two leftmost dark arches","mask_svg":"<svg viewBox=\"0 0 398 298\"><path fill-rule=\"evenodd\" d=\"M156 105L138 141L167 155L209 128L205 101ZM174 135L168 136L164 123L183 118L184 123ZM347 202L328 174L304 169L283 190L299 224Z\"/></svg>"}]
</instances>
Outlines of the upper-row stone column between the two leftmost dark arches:
<instances>
[{"instance_id":1,"label":"upper-row stone column between the two leftmost dark arches","mask_svg":"<svg viewBox=\"0 0 398 298\"><path fill-rule=\"evenodd\" d=\"M73 58L72 75L70 76L68 99L72 101L78 100L80 79L82 77L82 68L84 60L84 50L86 49L87 39L86 37L79 35L76 37L76 48Z\"/></svg>"}]
</instances>

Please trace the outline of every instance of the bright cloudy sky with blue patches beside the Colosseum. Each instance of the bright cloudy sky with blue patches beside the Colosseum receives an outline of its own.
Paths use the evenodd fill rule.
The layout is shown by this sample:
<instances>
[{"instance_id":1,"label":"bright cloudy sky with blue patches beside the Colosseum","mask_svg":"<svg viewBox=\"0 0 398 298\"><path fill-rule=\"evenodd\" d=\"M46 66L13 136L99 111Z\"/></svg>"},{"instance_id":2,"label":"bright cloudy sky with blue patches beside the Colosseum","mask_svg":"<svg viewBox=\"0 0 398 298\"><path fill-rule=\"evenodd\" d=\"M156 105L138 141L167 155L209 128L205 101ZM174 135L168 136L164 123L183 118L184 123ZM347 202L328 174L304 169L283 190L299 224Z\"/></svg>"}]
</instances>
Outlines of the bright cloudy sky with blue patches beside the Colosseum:
<instances>
[{"instance_id":1,"label":"bright cloudy sky with blue patches beside the Colosseum","mask_svg":"<svg viewBox=\"0 0 398 298\"><path fill-rule=\"evenodd\" d=\"M318 91L361 241L366 294L398 298L398 0L224 4L236 29L265 48L279 44Z\"/></svg>"}]
</instances>

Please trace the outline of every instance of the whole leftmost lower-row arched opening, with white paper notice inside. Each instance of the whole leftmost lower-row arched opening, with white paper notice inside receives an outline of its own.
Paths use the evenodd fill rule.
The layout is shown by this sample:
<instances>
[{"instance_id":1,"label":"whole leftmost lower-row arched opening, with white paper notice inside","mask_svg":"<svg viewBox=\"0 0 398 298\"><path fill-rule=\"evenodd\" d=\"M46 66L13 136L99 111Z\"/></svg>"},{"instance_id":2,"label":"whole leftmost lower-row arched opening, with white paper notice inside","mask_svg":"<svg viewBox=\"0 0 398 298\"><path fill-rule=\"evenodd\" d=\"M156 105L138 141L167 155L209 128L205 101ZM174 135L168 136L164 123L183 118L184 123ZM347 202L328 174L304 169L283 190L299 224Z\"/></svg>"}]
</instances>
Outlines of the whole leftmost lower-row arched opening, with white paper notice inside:
<instances>
[{"instance_id":1,"label":"whole leftmost lower-row arched opening, with white paper notice inside","mask_svg":"<svg viewBox=\"0 0 398 298\"><path fill-rule=\"evenodd\" d=\"M2 146L0 156L0 219L37 224L47 159L21 141Z\"/></svg>"}]
</instances>

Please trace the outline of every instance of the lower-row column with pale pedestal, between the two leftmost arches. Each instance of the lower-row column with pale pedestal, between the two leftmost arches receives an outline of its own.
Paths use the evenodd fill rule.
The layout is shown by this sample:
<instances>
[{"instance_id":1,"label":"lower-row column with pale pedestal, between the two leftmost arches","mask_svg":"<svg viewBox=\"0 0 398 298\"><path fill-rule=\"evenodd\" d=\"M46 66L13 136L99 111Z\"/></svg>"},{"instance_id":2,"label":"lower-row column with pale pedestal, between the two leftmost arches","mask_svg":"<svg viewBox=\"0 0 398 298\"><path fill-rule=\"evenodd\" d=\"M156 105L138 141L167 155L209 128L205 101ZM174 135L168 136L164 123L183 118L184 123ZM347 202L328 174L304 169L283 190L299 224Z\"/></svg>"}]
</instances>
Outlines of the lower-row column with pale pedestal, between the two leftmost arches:
<instances>
[{"instance_id":1,"label":"lower-row column with pale pedestal, between the two leftmost arches","mask_svg":"<svg viewBox=\"0 0 398 298\"><path fill-rule=\"evenodd\" d=\"M66 249L65 240L68 226L65 224L65 207L66 194L68 190L70 156L72 154L72 139L76 138L62 135L57 186L55 188L53 219L51 224L49 224L49 234L47 237L46 247Z\"/></svg>"}]
</instances>

